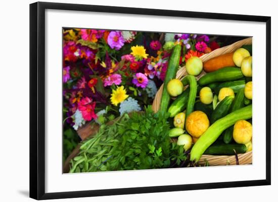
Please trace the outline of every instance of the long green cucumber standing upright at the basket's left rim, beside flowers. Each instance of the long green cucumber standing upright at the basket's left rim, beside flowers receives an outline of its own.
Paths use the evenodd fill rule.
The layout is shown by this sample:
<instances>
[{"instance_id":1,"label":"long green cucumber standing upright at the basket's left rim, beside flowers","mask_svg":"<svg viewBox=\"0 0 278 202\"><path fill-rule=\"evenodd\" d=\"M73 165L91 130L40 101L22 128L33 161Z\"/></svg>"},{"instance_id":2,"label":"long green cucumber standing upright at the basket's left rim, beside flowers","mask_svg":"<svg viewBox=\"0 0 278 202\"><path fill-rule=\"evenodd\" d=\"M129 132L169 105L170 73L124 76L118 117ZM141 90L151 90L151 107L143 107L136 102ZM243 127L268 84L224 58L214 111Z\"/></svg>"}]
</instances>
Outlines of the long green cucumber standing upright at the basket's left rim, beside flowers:
<instances>
[{"instance_id":1,"label":"long green cucumber standing upright at the basket's left rim, beside flowers","mask_svg":"<svg viewBox=\"0 0 278 202\"><path fill-rule=\"evenodd\" d=\"M176 72L178 69L179 58L180 58L180 51L181 51L181 46L179 44L175 45L168 62L168 68L164 79L161 104L160 104L160 111L162 112L166 112L168 109L168 105L170 102L170 95L167 92L167 84L170 80L176 78Z\"/></svg>"}]
</instances>

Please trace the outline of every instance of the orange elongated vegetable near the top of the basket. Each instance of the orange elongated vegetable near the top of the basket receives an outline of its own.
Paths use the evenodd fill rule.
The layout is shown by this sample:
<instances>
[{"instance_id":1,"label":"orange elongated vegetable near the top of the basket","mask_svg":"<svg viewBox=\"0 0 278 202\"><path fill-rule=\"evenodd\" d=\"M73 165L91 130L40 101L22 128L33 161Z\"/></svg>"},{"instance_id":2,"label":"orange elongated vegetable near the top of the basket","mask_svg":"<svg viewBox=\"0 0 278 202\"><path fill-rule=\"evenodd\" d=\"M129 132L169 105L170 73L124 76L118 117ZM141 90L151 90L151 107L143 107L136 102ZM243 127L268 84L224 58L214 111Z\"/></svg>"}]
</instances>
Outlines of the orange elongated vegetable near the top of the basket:
<instances>
[{"instance_id":1,"label":"orange elongated vegetable near the top of the basket","mask_svg":"<svg viewBox=\"0 0 278 202\"><path fill-rule=\"evenodd\" d=\"M233 61L234 52L213 57L203 63L205 72L214 72L226 66L236 66Z\"/></svg>"}]
</instances>

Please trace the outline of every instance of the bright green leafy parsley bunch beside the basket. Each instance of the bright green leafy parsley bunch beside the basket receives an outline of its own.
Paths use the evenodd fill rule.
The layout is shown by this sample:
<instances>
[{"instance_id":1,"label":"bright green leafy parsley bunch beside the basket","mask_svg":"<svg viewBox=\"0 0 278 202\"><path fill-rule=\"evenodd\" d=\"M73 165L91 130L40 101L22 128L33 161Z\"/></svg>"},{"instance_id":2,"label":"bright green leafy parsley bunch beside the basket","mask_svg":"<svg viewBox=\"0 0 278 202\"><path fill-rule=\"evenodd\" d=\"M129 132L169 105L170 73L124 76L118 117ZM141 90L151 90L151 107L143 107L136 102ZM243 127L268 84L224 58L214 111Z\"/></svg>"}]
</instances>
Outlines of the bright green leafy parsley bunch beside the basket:
<instances>
[{"instance_id":1,"label":"bright green leafy parsley bunch beside the basket","mask_svg":"<svg viewBox=\"0 0 278 202\"><path fill-rule=\"evenodd\" d=\"M108 161L110 170L168 168L171 161L185 159L182 147L171 143L168 114L154 113L151 106L145 113L133 113L118 130L122 134Z\"/></svg>"}]
</instances>

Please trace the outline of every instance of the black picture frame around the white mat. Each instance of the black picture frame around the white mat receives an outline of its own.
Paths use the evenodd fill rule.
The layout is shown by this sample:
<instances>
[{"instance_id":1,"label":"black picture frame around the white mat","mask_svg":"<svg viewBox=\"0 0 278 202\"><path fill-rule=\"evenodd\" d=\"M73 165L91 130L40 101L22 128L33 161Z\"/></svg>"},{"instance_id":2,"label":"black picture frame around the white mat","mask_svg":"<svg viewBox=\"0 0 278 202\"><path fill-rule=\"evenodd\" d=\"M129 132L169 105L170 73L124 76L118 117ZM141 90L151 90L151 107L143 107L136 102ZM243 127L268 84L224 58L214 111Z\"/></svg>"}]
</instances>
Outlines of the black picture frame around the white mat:
<instances>
[{"instance_id":1,"label":"black picture frame around the white mat","mask_svg":"<svg viewBox=\"0 0 278 202\"><path fill-rule=\"evenodd\" d=\"M116 188L102 190L83 190L45 193L45 10L71 10L121 14L140 14L154 16L187 17L203 19L221 19L253 21L266 23L266 178L263 180L231 181L202 184L180 184L167 186ZM119 195L164 191L181 191L195 189L213 189L226 187L243 187L270 185L270 126L271 126L271 18L266 16L247 16L219 13L188 11L170 11L157 9L124 8L111 6L93 6L61 3L30 4L30 197L34 199L71 198L102 195Z\"/></svg>"}]
</instances>

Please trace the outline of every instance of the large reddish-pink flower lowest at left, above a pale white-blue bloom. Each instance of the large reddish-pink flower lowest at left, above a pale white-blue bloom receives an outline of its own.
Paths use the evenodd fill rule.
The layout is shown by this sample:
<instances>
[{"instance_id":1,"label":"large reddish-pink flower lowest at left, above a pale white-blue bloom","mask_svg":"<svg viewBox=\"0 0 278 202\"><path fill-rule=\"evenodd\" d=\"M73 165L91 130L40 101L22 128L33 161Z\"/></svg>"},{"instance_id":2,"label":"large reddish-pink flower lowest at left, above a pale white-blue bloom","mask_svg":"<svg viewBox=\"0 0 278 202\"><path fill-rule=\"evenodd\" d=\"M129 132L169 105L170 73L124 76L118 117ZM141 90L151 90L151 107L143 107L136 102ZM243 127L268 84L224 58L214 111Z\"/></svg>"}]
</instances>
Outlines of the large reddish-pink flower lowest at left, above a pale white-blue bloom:
<instances>
[{"instance_id":1,"label":"large reddish-pink flower lowest at left, above a pale white-blue bloom","mask_svg":"<svg viewBox=\"0 0 278 202\"><path fill-rule=\"evenodd\" d=\"M98 116L95 114L96 102L88 97L82 98L78 103L78 109L82 113L84 120L90 121L91 119L96 119Z\"/></svg>"}]
</instances>

